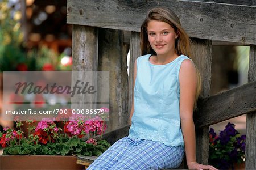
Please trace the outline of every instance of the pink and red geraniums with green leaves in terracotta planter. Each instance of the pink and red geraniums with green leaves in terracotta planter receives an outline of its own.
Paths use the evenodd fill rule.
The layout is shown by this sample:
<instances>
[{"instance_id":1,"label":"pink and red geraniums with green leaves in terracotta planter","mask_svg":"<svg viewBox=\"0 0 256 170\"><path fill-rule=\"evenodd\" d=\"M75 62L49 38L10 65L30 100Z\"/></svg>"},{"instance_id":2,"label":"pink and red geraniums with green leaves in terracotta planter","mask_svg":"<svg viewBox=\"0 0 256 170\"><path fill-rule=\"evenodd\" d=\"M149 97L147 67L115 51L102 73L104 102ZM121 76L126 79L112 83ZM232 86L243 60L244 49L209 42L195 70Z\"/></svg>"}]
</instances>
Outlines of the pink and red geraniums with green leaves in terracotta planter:
<instances>
[{"instance_id":1,"label":"pink and red geraniums with green leaves in terracotta planter","mask_svg":"<svg viewBox=\"0 0 256 170\"><path fill-rule=\"evenodd\" d=\"M57 126L57 121L43 118L35 126L34 120L28 124L28 138L24 137L22 121L15 119L16 130L6 127L0 132L0 146L3 155L73 155L100 156L110 147L105 140L93 137L102 135L106 129L105 122L98 116L85 120L83 116L73 115L64 123L64 128ZM82 139L89 134L89 139Z\"/></svg>"}]
</instances>

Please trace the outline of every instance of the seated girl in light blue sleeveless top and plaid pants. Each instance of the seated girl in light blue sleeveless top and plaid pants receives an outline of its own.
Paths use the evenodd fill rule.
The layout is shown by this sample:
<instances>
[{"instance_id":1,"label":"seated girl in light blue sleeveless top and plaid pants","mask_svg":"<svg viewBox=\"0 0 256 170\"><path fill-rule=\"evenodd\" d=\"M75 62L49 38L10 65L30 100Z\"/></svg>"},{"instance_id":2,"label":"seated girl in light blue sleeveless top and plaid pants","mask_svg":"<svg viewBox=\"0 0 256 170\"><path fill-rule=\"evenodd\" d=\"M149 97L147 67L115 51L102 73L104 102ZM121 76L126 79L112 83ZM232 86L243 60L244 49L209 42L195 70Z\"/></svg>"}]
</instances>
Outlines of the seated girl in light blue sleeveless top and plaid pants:
<instances>
[{"instance_id":1,"label":"seated girl in light blue sleeveless top and plaid pants","mask_svg":"<svg viewBox=\"0 0 256 170\"><path fill-rule=\"evenodd\" d=\"M170 169L184 156L189 169L216 169L195 158L193 109L200 76L189 37L166 7L147 12L141 52L134 63L134 97L128 137L115 142L88 169Z\"/></svg>"}]
</instances>

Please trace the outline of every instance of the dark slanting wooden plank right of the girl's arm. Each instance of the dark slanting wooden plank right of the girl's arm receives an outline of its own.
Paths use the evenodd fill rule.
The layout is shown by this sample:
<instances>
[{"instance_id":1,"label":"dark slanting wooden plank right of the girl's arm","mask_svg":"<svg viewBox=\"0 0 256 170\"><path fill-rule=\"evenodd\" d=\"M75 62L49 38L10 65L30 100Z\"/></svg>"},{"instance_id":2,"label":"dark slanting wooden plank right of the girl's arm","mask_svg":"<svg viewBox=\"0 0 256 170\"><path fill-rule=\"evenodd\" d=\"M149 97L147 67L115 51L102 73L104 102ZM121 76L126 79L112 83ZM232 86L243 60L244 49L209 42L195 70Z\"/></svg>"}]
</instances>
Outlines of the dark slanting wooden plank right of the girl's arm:
<instances>
[{"instance_id":1,"label":"dark slanting wooden plank right of the girl's arm","mask_svg":"<svg viewBox=\"0 0 256 170\"><path fill-rule=\"evenodd\" d=\"M256 81L200 100L194 118L196 128L255 112L255 94Z\"/></svg>"}]
</instances>

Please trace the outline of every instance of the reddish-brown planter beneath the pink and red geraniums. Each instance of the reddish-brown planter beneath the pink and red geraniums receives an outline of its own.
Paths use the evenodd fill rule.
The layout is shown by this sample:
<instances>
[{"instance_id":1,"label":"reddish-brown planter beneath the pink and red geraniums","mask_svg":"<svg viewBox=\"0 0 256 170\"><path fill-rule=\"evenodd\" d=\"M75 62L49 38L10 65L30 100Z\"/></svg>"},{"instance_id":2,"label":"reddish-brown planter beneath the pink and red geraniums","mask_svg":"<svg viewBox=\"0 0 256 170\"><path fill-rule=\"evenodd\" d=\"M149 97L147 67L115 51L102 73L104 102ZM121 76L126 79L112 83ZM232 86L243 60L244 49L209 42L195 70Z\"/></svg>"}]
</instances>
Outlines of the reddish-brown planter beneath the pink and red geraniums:
<instances>
[{"instance_id":1,"label":"reddish-brown planter beneath the pink and red geraniums","mask_svg":"<svg viewBox=\"0 0 256 170\"><path fill-rule=\"evenodd\" d=\"M0 169L85 169L76 156L0 155Z\"/></svg>"}]
</instances>

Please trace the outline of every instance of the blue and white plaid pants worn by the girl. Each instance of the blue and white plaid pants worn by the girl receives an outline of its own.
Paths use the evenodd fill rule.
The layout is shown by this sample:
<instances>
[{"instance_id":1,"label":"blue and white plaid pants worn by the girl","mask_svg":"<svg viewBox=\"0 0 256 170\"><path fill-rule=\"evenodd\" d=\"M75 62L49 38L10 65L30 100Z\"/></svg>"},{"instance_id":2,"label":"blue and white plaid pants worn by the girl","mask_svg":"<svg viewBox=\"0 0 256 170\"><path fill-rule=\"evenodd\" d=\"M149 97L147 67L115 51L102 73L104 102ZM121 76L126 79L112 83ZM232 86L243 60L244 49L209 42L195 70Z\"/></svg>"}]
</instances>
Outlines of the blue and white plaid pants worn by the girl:
<instances>
[{"instance_id":1,"label":"blue and white plaid pants worn by the girl","mask_svg":"<svg viewBox=\"0 0 256 170\"><path fill-rule=\"evenodd\" d=\"M161 142L124 137L115 142L87 168L103 169L171 169L181 164L182 146L166 146Z\"/></svg>"}]
</instances>

